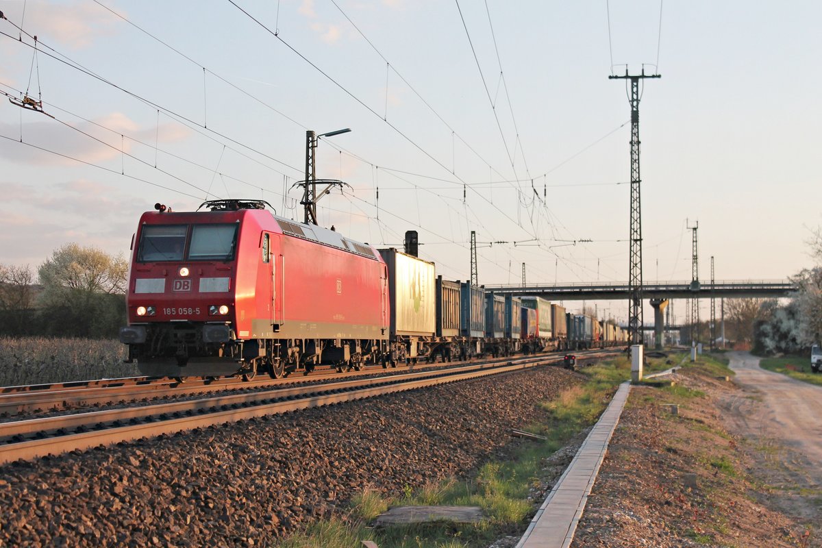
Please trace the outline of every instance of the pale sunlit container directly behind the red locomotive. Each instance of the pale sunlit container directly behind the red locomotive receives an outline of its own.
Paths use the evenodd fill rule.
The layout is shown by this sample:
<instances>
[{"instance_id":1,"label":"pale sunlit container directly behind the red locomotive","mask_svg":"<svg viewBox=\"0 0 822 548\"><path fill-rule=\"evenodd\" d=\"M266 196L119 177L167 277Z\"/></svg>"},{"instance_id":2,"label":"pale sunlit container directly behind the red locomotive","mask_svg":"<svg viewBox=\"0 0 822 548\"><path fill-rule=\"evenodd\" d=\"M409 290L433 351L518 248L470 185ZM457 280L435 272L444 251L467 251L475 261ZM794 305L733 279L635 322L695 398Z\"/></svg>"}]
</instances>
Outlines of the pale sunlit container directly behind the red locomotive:
<instances>
[{"instance_id":1,"label":"pale sunlit container directly behind the red locomotive","mask_svg":"<svg viewBox=\"0 0 822 548\"><path fill-rule=\"evenodd\" d=\"M390 249L380 255L388 266L390 334L433 337L436 333L434 263Z\"/></svg>"}]
</instances>

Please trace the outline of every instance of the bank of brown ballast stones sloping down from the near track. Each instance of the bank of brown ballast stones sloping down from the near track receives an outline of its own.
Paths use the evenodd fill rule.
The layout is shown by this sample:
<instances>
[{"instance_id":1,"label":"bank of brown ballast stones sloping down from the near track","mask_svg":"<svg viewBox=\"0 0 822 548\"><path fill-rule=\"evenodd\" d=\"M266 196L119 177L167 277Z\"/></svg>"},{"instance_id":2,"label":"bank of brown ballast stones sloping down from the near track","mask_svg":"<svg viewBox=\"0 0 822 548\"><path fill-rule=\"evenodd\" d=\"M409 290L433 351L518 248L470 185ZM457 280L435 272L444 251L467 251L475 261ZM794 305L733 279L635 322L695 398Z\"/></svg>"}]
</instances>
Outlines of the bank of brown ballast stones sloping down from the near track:
<instances>
[{"instance_id":1,"label":"bank of brown ballast stones sloping down from the near track","mask_svg":"<svg viewBox=\"0 0 822 548\"><path fill-rule=\"evenodd\" d=\"M520 444L553 367L0 468L0 545L276 546L368 486L463 475Z\"/></svg>"}]
</instances>

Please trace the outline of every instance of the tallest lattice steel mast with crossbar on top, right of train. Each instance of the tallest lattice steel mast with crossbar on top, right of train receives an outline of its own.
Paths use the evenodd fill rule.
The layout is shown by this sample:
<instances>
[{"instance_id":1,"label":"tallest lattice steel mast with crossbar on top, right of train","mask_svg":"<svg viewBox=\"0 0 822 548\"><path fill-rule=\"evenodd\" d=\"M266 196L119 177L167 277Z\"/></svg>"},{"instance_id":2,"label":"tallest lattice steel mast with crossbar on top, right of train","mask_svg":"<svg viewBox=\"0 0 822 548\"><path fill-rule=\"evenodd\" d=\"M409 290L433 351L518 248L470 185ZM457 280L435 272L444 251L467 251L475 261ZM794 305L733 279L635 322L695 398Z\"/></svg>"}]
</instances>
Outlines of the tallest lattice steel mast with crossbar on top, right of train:
<instances>
[{"instance_id":1,"label":"tallest lattice steel mast with crossbar on top, right of train","mask_svg":"<svg viewBox=\"0 0 822 548\"><path fill-rule=\"evenodd\" d=\"M630 76L608 76L608 79L630 80L630 254L628 257L628 330L631 344L642 344L642 209L640 207L640 80L660 75L642 73Z\"/></svg>"}]
</instances>

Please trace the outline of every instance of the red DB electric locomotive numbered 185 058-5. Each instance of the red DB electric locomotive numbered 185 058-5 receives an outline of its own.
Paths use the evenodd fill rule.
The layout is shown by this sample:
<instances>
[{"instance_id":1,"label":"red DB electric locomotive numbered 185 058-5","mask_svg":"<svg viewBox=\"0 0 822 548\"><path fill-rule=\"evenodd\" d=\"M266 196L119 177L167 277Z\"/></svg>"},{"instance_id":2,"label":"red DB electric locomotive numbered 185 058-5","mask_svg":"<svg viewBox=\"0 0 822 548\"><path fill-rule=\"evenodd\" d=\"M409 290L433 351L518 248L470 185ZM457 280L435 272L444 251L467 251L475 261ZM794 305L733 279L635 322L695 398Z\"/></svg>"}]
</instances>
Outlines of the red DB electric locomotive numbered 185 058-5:
<instances>
[{"instance_id":1,"label":"red DB electric locomotive numbered 185 058-5","mask_svg":"<svg viewBox=\"0 0 822 548\"><path fill-rule=\"evenodd\" d=\"M390 304L380 253L266 205L211 200L178 213L158 204L142 215L120 340L144 375L276 378L385 362Z\"/></svg>"}]
</instances>

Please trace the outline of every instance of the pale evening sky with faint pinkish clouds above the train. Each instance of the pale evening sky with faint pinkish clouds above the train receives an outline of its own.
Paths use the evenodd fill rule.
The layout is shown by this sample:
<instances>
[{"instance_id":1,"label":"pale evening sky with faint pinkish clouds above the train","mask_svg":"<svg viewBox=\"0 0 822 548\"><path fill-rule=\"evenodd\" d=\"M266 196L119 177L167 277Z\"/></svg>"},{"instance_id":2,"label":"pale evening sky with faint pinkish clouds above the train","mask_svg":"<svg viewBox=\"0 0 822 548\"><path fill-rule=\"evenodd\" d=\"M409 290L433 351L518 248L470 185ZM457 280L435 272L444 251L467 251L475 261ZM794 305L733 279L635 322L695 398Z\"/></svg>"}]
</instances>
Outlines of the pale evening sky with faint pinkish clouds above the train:
<instances>
[{"instance_id":1,"label":"pale evening sky with faint pinkish clouds above the train","mask_svg":"<svg viewBox=\"0 0 822 548\"><path fill-rule=\"evenodd\" d=\"M162 202L261 198L377 246L420 233L446 278L626 282L640 104L644 279L784 279L820 226L822 4L0 1L0 263L127 255ZM33 36L38 37L35 48ZM569 304L569 303L566 303ZM570 306L576 306L570 304ZM626 303L608 314L625 318ZM707 306L707 305L706 305ZM679 312L684 316L684 304ZM646 318L649 312L646 311Z\"/></svg>"}]
</instances>

